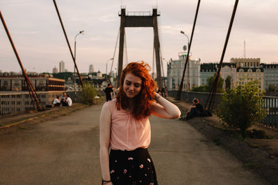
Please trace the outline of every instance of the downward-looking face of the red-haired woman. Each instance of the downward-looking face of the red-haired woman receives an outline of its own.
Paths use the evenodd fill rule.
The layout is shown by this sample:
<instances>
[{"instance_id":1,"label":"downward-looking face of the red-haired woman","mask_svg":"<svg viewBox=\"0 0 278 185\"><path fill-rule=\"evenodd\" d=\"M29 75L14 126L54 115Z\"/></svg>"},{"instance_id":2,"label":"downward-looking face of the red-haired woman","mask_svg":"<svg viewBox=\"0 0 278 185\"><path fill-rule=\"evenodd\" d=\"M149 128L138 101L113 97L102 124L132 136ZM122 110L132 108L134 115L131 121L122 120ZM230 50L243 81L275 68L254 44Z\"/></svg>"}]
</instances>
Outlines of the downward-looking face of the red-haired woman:
<instances>
[{"instance_id":1,"label":"downward-looking face of the red-haired woman","mask_svg":"<svg viewBox=\"0 0 278 185\"><path fill-rule=\"evenodd\" d=\"M137 96L141 91L142 80L138 76L134 76L132 73L127 73L124 78L124 94L128 98Z\"/></svg>"}]
</instances>

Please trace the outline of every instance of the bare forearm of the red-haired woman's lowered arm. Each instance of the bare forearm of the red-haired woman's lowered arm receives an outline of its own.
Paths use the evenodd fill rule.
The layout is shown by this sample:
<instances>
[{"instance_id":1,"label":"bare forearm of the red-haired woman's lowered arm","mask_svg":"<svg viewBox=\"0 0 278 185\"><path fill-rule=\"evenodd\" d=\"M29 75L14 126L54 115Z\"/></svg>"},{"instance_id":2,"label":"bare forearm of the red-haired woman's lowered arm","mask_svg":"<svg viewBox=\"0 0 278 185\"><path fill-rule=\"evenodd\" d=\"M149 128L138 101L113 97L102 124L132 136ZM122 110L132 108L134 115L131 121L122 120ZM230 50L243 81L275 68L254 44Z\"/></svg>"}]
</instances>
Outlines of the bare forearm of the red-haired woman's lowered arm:
<instances>
[{"instance_id":1,"label":"bare forearm of the red-haired woman's lowered arm","mask_svg":"<svg viewBox=\"0 0 278 185\"><path fill-rule=\"evenodd\" d=\"M100 159L102 179L111 180L110 170L109 170L108 148L103 147L99 149L99 159Z\"/></svg>"}]
</instances>

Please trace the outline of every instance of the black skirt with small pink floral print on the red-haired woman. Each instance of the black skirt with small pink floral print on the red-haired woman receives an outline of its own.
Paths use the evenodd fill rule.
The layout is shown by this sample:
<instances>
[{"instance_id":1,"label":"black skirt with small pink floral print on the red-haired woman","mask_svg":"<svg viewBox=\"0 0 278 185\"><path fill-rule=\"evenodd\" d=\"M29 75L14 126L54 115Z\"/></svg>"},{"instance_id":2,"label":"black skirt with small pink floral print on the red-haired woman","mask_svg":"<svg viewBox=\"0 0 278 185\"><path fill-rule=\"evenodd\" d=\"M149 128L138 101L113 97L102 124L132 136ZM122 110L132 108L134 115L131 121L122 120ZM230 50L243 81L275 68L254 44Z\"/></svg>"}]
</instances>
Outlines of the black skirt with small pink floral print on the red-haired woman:
<instances>
[{"instance_id":1,"label":"black skirt with small pink floral print on the red-haired woman","mask_svg":"<svg viewBox=\"0 0 278 185\"><path fill-rule=\"evenodd\" d=\"M156 170L147 148L111 150L109 166L113 185L158 184Z\"/></svg>"}]
</instances>

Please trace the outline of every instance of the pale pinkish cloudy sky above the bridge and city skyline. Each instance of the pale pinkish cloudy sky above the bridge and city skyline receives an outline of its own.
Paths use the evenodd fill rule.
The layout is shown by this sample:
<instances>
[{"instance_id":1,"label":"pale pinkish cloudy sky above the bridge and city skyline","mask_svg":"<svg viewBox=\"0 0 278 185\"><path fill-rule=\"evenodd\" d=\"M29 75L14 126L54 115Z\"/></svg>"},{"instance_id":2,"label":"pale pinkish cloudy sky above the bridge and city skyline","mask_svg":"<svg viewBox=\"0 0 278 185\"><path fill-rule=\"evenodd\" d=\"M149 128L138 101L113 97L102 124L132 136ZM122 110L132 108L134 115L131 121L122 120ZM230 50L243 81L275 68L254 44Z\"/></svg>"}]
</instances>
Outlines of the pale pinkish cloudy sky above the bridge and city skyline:
<instances>
[{"instance_id":1,"label":"pale pinkish cloudy sky above the bridge and city skyline","mask_svg":"<svg viewBox=\"0 0 278 185\"><path fill-rule=\"evenodd\" d=\"M158 34L164 71L166 60L178 59L178 53L187 44L183 30L190 38L197 0L56 0L67 37L74 51L80 72L88 73L89 65L95 71L106 73L111 69L120 28L118 12L122 6L127 12L150 11L157 6ZM219 62L234 8L235 0L203 0L190 49L192 58L201 62ZM278 62L278 1L240 0L229 37L224 62L242 58L244 40L247 58L261 58L261 62ZM65 62L65 69L74 71L74 62L68 49L54 2L51 0L0 0L0 10L10 30L17 53L27 71L52 72ZM126 28L124 64L144 60L152 67L153 28ZM117 68L119 49L116 48L113 69ZM107 62L108 61L108 62ZM20 71L3 24L0 25L0 70Z\"/></svg>"}]
</instances>

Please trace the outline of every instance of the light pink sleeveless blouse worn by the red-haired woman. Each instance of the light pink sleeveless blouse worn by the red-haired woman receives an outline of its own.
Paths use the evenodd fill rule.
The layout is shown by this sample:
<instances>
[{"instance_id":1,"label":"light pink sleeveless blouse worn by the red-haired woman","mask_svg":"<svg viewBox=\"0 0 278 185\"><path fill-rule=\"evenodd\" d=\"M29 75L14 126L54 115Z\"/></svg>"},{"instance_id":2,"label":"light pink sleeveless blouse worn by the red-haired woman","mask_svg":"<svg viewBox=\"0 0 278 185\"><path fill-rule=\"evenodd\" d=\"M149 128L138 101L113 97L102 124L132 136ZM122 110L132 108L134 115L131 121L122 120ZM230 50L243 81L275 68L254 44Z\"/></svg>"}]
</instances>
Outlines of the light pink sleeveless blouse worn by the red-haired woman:
<instances>
[{"instance_id":1,"label":"light pink sleeveless blouse worn by the red-haired woman","mask_svg":"<svg viewBox=\"0 0 278 185\"><path fill-rule=\"evenodd\" d=\"M118 110L117 99L108 101L111 112L110 148L113 150L135 150L147 148L151 142L149 118L138 121L132 114Z\"/></svg>"}]
</instances>

